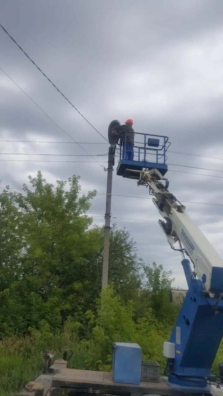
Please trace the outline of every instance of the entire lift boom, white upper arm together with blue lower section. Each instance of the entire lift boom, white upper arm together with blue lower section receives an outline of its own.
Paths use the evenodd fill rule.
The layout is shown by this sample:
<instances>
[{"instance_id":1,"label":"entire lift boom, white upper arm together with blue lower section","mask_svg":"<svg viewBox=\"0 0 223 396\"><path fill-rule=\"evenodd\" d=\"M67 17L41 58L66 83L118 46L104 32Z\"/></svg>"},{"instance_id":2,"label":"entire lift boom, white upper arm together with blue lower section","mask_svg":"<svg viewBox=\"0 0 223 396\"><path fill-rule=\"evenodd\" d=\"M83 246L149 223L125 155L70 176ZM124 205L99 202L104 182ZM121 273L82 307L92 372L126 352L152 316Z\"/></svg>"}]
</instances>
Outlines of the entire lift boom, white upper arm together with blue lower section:
<instances>
[{"instance_id":1,"label":"entire lift boom, white upper arm together with blue lower section","mask_svg":"<svg viewBox=\"0 0 223 396\"><path fill-rule=\"evenodd\" d=\"M149 187L163 217L159 224L171 248L183 255L181 263L188 283L185 301L163 348L169 383L206 386L223 337L223 260L188 216L185 206L169 192L169 182L158 169L143 168L137 184ZM179 249L174 247L176 242ZM194 265L193 272L185 254ZM219 395L216 389L212 386L213 396Z\"/></svg>"}]
</instances>

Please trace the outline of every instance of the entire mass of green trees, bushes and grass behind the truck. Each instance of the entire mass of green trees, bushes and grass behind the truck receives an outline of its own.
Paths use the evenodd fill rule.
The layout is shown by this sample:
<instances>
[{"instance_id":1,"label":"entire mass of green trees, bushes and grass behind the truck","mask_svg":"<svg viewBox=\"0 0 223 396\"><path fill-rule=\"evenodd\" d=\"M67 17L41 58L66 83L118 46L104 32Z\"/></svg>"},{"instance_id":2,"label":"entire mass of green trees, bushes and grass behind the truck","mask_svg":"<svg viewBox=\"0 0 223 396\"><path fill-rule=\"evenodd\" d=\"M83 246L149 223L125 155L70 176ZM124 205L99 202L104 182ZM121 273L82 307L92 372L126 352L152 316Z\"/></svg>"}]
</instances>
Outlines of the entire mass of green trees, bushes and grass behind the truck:
<instances>
[{"instance_id":1,"label":"entire mass of green trees, bushes and grass behind the truck","mask_svg":"<svg viewBox=\"0 0 223 396\"><path fill-rule=\"evenodd\" d=\"M79 177L56 187L38 172L23 194L0 194L0 395L41 372L42 353L73 350L70 367L110 371L116 341L138 343L164 369L179 307L171 271L145 265L129 232L113 225L109 284L102 283L102 227L88 217L96 192L79 196ZM100 297L99 297L100 296ZM220 346L213 372L223 360Z\"/></svg>"}]
</instances>

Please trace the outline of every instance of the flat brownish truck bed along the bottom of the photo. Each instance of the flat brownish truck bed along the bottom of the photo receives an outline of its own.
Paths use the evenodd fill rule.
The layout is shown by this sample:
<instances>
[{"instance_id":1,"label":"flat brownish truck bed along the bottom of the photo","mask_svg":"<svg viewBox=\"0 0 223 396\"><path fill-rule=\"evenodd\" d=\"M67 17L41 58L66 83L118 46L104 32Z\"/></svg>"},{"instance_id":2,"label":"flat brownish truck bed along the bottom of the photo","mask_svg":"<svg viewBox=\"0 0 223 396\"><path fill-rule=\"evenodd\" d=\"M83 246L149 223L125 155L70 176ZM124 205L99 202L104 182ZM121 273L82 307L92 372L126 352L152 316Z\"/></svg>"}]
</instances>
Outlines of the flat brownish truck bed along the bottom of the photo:
<instances>
[{"instance_id":1,"label":"flat brownish truck bed along the bottom of the photo","mask_svg":"<svg viewBox=\"0 0 223 396\"><path fill-rule=\"evenodd\" d=\"M188 393L210 394L209 386L205 388L192 388L171 384L167 377L160 377L160 382L141 381L140 385L113 383L112 373L103 371L88 371L69 369L67 362L58 359L50 367L50 372L40 375L35 381L29 383L27 391L19 395L29 396L185 396ZM67 391L67 392L66 392Z\"/></svg>"}]
</instances>

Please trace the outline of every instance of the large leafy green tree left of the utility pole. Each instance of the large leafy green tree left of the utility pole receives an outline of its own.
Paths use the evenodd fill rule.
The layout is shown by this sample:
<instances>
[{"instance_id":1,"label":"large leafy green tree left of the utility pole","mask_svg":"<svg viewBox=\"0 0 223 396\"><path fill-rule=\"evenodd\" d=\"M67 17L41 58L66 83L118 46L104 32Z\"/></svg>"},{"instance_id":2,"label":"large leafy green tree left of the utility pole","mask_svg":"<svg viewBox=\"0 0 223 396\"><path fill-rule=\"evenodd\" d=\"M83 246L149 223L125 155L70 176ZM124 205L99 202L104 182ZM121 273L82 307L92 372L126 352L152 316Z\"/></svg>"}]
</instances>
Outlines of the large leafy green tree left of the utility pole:
<instances>
[{"instance_id":1,"label":"large leafy green tree left of the utility pole","mask_svg":"<svg viewBox=\"0 0 223 396\"><path fill-rule=\"evenodd\" d=\"M32 190L0 195L1 331L25 331L42 319L58 327L69 314L80 319L88 294L91 243L86 215L95 191L79 198L78 177L58 181L56 189L38 172ZM34 191L33 191L34 190Z\"/></svg>"}]
</instances>

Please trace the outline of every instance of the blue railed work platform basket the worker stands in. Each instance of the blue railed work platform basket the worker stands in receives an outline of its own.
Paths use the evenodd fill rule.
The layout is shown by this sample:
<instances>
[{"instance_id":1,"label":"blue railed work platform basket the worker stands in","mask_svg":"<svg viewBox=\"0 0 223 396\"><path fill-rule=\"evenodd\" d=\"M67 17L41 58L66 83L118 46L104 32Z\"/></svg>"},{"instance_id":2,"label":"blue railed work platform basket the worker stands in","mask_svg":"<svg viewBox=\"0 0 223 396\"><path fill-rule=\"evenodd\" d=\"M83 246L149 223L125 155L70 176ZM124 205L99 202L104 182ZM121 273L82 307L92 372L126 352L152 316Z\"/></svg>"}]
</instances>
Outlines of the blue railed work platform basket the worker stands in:
<instances>
[{"instance_id":1,"label":"blue railed work platform basket the worker stands in","mask_svg":"<svg viewBox=\"0 0 223 396\"><path fill-rule=\"evenodd\" d=\"M170 146L169 138L162 135L152 135L150 133L135 132L135 143L133 147L133 160L128 158L128 138L127 132L123 131L121 136L125 135L124 141L117 145L119 153L119 164L117 166L117 175L138 179L142 168L158 169L162 175L167 172L167 149ZM122 139L123 140L123 139Z\"/></svg>"}]
</instances>

